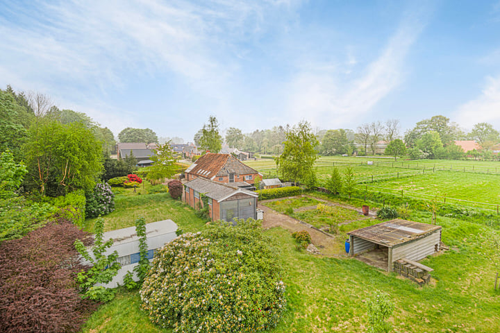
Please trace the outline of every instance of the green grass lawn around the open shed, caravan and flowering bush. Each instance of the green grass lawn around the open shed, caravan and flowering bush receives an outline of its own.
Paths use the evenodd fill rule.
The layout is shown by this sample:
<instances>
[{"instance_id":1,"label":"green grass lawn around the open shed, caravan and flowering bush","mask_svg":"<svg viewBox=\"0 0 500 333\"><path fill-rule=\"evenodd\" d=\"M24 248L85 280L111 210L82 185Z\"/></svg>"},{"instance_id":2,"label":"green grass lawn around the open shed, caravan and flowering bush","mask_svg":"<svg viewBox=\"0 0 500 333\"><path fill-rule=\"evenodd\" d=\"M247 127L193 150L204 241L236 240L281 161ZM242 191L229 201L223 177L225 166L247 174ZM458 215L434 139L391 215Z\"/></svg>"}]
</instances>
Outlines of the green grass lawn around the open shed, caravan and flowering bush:
<instances>
[{"instance_id":1,"label":"green grass lawn around the open shed, caravan and flowering bush","mask_svg":"<svg viewBox=\"0 0 500 333\"><path fill-rule=\"evenodd\" d=\"M183 230L202 230L205 221L192 208L168 194L117 195L116 210L105 216L106 228L133 225L135 216L149 221L173 219ZM315 199L291 201L294 208L314 205ZM135 208L134 208L135 207ZM286 205L281 205L286 209ZM428 212L411 212L413 221L430 221ZM343 245L342 233L360 228L365 220L344 225L335 241ZM499 332L500 292L493 289L499 271L496 228L438 216L442 241L450 250L428 257L422 264L434 268L435 281L426 287L380 271L346 256L324 257L297 250L290 232L264 230L276 246L287 284L288 309L272 333L363 332L367 325L366 300L375 291L390 295L396 309L390 321L394 332ZM92 220L88 221L88 227ZM172 332L149 323L140 309L138 291L119 289L115 300L92 314L81 332Z\"/></svg>"}]
</instances>

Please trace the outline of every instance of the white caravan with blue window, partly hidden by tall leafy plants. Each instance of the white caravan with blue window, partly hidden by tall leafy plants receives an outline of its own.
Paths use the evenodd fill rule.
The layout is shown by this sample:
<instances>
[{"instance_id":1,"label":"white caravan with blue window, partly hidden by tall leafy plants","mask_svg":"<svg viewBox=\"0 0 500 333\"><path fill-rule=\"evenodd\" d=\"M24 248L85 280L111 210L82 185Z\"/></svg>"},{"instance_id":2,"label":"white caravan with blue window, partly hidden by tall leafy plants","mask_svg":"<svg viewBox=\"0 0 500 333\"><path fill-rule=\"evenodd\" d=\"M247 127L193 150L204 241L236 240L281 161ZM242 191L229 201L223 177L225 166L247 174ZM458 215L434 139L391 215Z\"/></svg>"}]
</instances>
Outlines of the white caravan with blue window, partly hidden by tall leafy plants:
<instances>
[{"instance_id":1,"label":"white caravan with blue window, partly hidden by tall leafy plants","mask_svg":"<svg viewBox=\"0 0 500 333\"><path fill-rule=\"evenodd\" d=\"M147 256L149 260L153 259L156 250L177 237L176 230L177 225L172 220L147 223ZM123 284L123 278L128 271L133 273L133 278L137 281L138 278L133 272L133 268L138 265L140 254L139 237L135 233L135 227L103 232L103 240L108 241L108 239L113 239L113 245L108 248L105 255L110 255L116 250L118 253L117 262L122 265L122 268L119 269L113 280L104 287L115 288L118 284Z\"/></svg>"}]
</instances>

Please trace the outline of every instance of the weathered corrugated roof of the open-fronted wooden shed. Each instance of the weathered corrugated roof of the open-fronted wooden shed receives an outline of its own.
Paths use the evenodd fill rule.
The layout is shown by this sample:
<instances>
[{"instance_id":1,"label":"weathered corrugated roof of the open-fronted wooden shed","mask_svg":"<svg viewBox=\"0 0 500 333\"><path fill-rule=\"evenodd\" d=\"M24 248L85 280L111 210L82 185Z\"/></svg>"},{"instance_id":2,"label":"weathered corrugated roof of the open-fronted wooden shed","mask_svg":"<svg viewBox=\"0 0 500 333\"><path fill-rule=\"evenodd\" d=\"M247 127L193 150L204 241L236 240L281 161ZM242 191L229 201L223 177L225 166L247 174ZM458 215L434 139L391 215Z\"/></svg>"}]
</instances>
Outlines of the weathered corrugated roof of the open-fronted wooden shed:
<instances>
[{"instance_id":1,"label":"weathered corrugated roof of the open-fronted wooden shed","mask_svg":"<svg viewBox=\"0 0 500 333\"><path fill-rule=\"evenodd\" d=\"M366 228L353 230L347 232L347 234L392 248L393 246L406 243L407 241L424 237L426 234L430 234L440 229L440 225L394 219Z\"/></svg>"}]
</instances>

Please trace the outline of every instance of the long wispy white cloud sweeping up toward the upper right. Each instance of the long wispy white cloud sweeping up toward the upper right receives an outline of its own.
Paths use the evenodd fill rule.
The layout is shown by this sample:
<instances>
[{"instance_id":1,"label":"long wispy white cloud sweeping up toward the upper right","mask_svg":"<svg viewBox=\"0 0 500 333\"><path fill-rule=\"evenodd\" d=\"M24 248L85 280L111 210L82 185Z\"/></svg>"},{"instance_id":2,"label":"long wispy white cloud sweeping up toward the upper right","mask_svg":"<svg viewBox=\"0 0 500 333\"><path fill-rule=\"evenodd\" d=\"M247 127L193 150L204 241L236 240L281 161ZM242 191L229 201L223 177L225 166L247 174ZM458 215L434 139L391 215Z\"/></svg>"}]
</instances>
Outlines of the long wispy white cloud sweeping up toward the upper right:
<instances>
[{"instance_id":1,"label":"long wispy white cloud sweeping up toward the upper right","mask_svg":"<svg viewBox=\"0 0 500 333\"><path fill-rule=\"evenodd\" d=\"M352 127L404 79L406 55L424 24L419 15L406 16L398 31L390 37L381 55L356 78L353 65L359 65L351 49L342 74L301 71L290 84L288 108L295 122L306 117L322 128Z\"/></svg>"}]
</instances>

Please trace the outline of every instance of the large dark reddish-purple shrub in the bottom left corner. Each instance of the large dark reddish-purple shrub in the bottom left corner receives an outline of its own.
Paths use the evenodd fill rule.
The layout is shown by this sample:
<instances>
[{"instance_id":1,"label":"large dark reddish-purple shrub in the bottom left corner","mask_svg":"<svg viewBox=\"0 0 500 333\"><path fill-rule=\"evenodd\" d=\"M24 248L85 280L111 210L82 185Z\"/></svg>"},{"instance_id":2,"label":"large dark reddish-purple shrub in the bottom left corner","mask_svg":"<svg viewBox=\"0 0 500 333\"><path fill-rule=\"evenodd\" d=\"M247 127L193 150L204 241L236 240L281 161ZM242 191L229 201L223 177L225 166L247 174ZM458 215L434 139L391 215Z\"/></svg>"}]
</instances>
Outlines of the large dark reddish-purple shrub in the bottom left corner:
<instances>
[{"instance_id":1,"label":"large dark reddish-purple shrub in the bottom left corner","mask_svg":"<svg viewBox=\"0 0 500 333\"><path fill-rule=\"evenodd\" d=\"M61 215L62 216L62 215ZM97 303L78 294L75 239L87 232L59 217L0 244L0 332L78 332Z\"/></svg>"}]
</instances>

